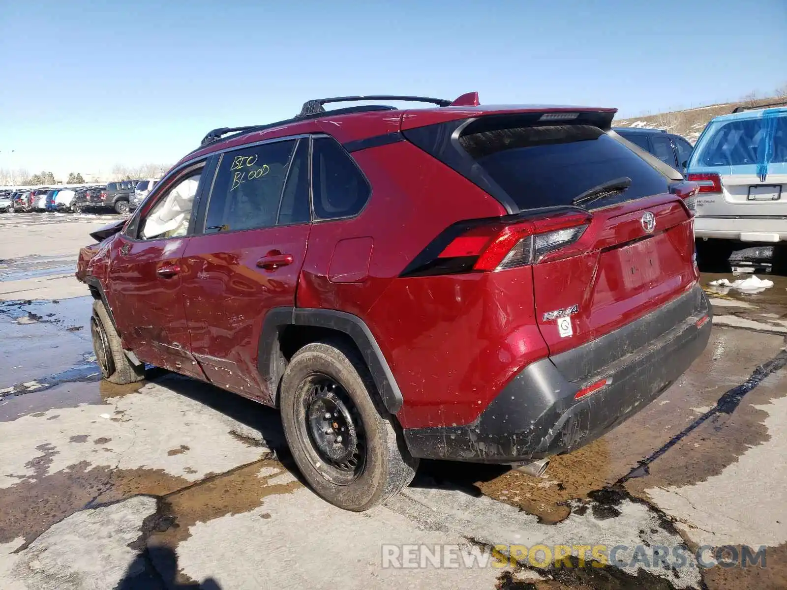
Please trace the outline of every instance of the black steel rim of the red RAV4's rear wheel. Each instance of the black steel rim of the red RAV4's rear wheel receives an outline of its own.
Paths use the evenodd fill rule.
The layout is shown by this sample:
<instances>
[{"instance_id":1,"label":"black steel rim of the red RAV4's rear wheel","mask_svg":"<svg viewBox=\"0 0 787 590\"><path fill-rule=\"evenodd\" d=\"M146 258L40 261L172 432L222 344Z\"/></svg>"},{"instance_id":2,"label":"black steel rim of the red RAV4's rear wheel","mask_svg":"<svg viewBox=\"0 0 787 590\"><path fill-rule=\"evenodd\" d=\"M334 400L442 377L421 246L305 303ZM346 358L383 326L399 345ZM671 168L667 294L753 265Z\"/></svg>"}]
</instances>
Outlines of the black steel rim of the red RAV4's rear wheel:
<instances>
[{"instance_id":1,"label":"black steel rim of the red RAV4's rear wheel","mask_svg":"<svg viewBox=\"0 0 787 590\"><path fill-rule=\"evenodd\" d=\"M366 460L358 409L342 385L327 375L312 375L301 386L312 465L331 483L347 485L363 473Z\"/></svg>"}]
</instances>

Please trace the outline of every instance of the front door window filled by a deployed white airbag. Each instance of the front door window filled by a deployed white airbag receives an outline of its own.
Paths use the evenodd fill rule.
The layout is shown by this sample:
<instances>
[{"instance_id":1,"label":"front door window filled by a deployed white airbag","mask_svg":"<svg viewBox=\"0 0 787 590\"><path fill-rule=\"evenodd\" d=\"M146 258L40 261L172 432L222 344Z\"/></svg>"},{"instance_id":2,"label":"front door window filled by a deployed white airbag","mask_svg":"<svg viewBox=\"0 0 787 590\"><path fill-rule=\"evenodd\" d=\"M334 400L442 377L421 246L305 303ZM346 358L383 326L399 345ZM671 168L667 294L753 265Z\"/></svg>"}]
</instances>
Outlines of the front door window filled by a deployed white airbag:
<instances>
[{"instance_id":1,"label":"front door window filled by a deployed white airbag","mask_svg":"<svg viewBox=\"0 0 787 590\"><path fill-rule=\"evenodd\" d=\"M142 219L139 238L153 240L186 235L200 175L201 171L195 171L178 180L161 195L156 205L153 205Z\"/></svg>"}]
</instances>

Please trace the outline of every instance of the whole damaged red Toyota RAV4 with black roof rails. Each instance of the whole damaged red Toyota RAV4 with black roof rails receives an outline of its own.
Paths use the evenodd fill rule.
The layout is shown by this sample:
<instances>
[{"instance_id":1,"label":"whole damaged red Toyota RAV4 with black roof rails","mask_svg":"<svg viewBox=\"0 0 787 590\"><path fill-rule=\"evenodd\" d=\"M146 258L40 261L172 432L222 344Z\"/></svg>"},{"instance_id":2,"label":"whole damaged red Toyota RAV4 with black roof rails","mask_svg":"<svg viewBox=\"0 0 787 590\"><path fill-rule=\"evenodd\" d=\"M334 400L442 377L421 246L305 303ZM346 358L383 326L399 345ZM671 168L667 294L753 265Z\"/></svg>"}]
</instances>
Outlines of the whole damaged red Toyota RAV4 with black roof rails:
<instances>
[{"instance_id":1,"label":"whole damaged red Toyota RAV4 with black roof rails","mask_svg":"<svg viewBox=\"0 0 787 590\"><path fill-rule=\"evenodd\" d=\"M369 99L437 106L323 108ZM587 444L711 330L696 185L614 113L343 97L211 131L80 253L103 375L150 363L279 407L303 476L356 511L422 457Z\"/></svg>"}]
</instances>

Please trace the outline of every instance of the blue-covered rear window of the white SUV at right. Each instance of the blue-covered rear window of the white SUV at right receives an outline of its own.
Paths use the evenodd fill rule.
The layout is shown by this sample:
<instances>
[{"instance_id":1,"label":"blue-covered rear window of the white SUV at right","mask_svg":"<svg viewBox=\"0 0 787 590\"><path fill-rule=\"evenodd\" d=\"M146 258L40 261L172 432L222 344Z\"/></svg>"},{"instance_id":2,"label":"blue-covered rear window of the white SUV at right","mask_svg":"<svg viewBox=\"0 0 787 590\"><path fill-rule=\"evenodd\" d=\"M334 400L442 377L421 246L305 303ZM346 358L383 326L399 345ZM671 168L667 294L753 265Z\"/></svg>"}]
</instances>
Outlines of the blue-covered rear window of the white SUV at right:
<instances>
[{"instance_id":1,"label":"blue-covered rear window of the white SUV at right","mask_svg":"<svg viewBox=\"0 0 787 590\"><path fill-rule=\"evenodd\" d=\"M741 166L787 162L787 116L718 121L697 148L693 164Z\"/></svg>"}]
</instances>

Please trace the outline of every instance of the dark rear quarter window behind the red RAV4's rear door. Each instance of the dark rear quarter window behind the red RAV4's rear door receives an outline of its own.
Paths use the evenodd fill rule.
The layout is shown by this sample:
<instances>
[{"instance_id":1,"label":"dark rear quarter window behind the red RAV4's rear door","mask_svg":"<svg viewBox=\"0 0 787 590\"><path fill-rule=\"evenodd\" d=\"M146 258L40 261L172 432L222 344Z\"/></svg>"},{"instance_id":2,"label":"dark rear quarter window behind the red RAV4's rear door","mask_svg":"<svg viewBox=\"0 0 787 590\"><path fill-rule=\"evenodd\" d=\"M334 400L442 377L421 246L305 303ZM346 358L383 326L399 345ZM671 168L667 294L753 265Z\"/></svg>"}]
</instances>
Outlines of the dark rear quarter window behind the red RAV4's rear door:
<instances>
[{"instance_id":1,"label":"dark rear quarter window behind the red RAV4's rear door","mask_svg":"<svg viewBox=\"0 0 787 590\"><path fill-rule=\"evenodd\" d=\"M319 219L357 215L369 200L369 185L349 154L334 139L315 138L312 198Z\"/></svg>"}]
</instances>

